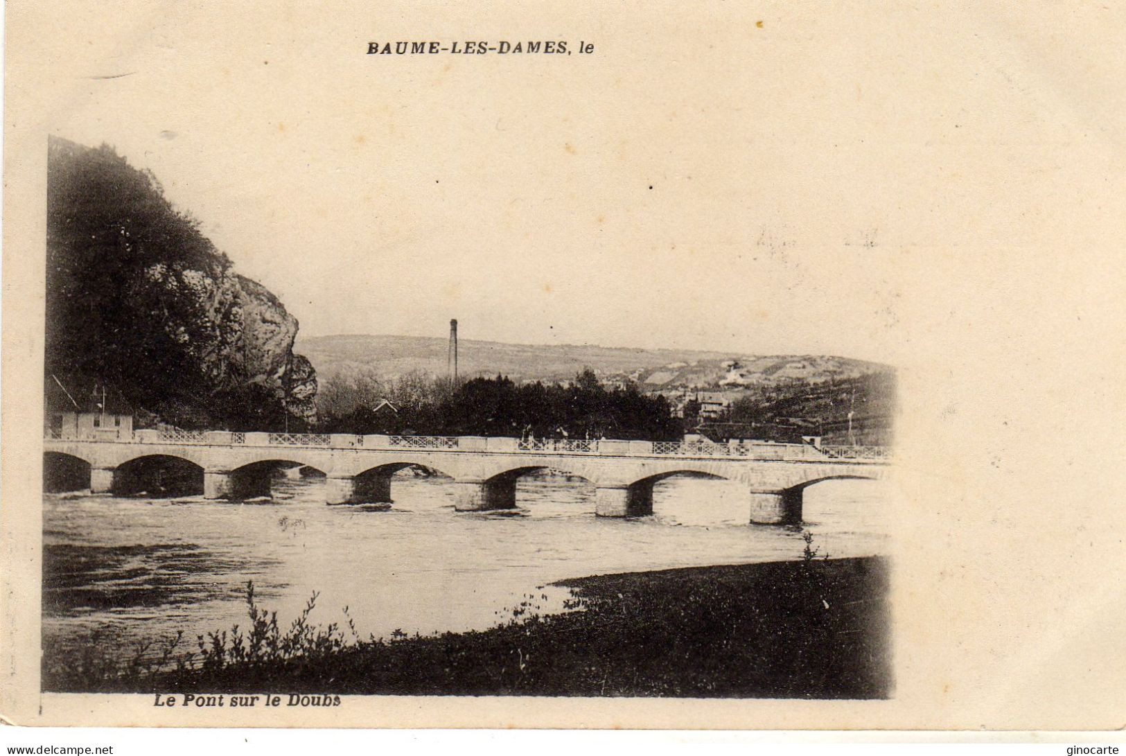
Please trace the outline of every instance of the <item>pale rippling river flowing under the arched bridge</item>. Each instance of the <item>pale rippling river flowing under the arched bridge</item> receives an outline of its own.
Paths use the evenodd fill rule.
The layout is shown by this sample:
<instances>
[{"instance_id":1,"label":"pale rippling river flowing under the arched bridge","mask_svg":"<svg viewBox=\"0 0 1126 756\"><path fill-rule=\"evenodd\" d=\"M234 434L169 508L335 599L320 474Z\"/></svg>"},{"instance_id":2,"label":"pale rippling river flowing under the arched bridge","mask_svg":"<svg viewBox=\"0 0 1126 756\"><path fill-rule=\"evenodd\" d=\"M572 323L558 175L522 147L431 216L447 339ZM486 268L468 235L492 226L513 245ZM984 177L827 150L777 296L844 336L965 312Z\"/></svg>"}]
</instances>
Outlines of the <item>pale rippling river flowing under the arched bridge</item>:
<instances>
[{"instance_id":1,"label":"pale rippling river flowing under the arched bridge","mask_svg":"<svg viewBox=\"0 0 1126 756\"><path fill-rule=\"evenodd\" d=\"M484 629L526 595L562 606L563 578L671 567L799 559L796 528L747 524L741 484L674 477L656 484L652 517L596 517L581 479L530 474L519 508L455 513L440 478L396 473L391 508L329 507L323 480L279 477L269 499L44 497L44 640L107 653L182 631L247 624L245 586L288 622L319 592L315 622L363 638ZM882 483L832 480L805 491L805 519L830 557L887 551Z\"/></svg>"}]
</instances>

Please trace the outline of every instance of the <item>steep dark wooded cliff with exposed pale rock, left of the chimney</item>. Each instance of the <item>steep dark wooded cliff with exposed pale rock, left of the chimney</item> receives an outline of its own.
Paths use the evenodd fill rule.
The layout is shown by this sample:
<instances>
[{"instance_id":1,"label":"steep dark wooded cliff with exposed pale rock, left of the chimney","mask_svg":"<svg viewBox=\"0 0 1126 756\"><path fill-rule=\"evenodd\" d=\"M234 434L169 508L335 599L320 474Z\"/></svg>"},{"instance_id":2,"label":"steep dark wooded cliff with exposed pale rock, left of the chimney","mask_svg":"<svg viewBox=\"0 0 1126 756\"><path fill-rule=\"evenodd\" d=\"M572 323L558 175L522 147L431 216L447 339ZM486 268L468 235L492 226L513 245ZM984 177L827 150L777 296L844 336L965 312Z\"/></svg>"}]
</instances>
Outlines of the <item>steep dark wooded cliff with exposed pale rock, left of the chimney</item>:
<instances>
[{"instance_id":1,"label":"steep dark wooded cliff with exposed pale rock, left of the chimney","mask_svg":"<svg viewBox=\"0 0 1126 756\"><path fill-rule=\"evenodd\" d=\"M297 320L232 270L155 177L109 148L53 139L47 194L48 379L108 384L182 427L316 421Z\"/></svg>"}]
</instances>

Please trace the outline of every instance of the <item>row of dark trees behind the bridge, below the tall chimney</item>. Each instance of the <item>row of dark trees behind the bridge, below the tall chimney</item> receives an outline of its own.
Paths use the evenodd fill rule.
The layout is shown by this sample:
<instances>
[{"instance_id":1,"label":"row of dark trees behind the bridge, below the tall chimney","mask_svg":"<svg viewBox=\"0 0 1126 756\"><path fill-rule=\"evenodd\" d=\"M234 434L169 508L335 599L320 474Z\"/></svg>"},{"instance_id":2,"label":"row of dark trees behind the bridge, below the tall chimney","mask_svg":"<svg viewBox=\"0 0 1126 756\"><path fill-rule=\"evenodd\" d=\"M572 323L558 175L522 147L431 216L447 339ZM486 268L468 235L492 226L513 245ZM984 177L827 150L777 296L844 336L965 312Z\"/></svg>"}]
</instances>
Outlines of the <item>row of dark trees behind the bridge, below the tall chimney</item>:
<instances>
[{"instance_id":1,"label":"row of dark trees behind the bridge, below the tall chimney","mask_svg":"<svg viewBox=\"0 0 1126 756\"><path fill-rule=\"evenodd\" d=\"M610 389L589 368L566 385L502 375L456 385L419 374L334 375L321 382L318 412L325 433L652 441L683 433L663 397Z\"/></svg>"}]
</instances>

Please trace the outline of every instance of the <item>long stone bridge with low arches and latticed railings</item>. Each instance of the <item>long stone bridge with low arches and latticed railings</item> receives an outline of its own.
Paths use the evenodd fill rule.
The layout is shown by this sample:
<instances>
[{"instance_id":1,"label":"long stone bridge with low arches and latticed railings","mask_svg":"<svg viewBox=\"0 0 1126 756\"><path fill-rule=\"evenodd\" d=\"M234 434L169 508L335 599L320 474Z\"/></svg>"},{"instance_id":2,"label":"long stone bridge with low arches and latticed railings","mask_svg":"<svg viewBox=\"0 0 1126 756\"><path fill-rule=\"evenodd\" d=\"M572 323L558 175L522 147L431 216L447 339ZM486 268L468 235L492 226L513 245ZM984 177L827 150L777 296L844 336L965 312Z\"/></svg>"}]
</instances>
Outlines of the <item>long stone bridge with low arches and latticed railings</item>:
<instances>
[{"instance_id":1,"label":"long stone bridge with low arches and latticed railings","mask_svg":"<svg viewBox=\"0 0 1126 756\"><path fill-rule=\"evenodd\" d=\"M886 450L863 446L184 430L50 437L44 453L88 464L91 492L122 490L137 465L188 465L202 471L207 499L268 496L275 470L306 465L327 475L328 504L391 501L392 475L419 465L453 479L461 512L515 507L517 479L549 469L593 483L604 517L652 514L654 483L701 473L743 483L759 524L798 523L806 487L881 479L888 464Z\"/></svg>"}]
</instances>

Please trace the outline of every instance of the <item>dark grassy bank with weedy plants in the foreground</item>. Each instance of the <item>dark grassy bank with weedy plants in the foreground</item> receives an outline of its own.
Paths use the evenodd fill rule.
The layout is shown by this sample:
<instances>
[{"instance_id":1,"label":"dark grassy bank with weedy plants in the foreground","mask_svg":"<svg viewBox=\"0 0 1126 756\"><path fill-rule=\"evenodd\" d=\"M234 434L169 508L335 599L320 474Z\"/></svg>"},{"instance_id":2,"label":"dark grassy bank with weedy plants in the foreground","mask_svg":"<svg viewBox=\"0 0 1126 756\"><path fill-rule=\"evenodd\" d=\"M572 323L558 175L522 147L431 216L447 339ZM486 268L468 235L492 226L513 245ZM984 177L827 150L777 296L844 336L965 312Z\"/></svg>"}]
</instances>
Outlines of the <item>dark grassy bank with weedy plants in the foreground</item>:
<instances>
[{"instance_id":1,"label":"dark grassy bank with weedy plants in the foreground","mask_svg":"<svg viewBox=\"0 0 1126 756\"><path fill-rule=\"evenodd\" d=\"M249 597L245 631L159 664L45 668L44 688L422 695L886 697L879 558L701 567L564 580L577 608L530 597L498 628L361 640L346 624L282 631Z\"/></svg>"}]
</instances>

